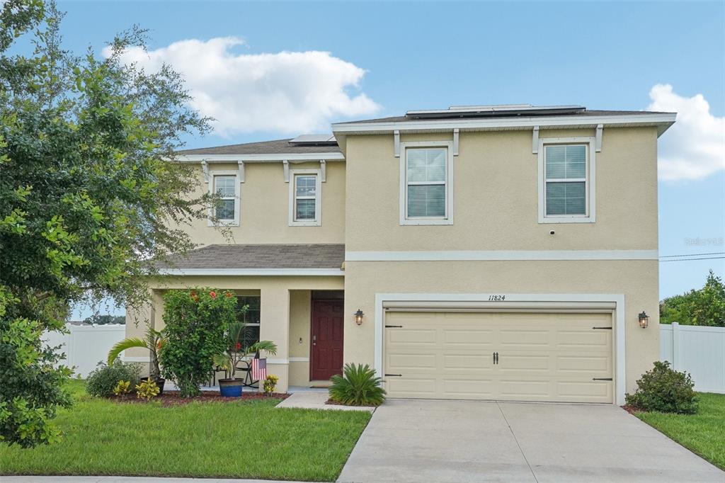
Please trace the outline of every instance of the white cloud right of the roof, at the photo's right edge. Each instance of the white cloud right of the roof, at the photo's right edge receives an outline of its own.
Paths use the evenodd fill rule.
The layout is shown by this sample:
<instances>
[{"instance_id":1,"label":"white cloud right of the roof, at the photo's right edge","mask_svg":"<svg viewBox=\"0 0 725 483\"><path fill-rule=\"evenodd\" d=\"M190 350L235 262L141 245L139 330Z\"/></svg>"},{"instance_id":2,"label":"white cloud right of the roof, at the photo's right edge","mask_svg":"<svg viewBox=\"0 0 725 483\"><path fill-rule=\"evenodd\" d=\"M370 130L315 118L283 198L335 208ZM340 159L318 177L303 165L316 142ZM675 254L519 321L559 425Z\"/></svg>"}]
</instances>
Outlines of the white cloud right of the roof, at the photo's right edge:
<instances>
[{"instance_id":1,"label":"white cloud right of the roof, at the photo's right edge","mask_svg":"<svg viewBox=\"0 0 725 483\"><path fill-rule=\"evenodd\" d=\"M669 84L657 84L650 99L647 110L677 112L677 122L660 138L660 179L696 180L725 170L725 117L713 116L702 94L683 97Z\"/></svg>"}]
</instances>

